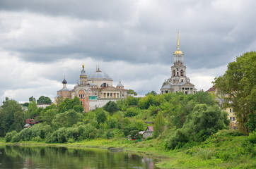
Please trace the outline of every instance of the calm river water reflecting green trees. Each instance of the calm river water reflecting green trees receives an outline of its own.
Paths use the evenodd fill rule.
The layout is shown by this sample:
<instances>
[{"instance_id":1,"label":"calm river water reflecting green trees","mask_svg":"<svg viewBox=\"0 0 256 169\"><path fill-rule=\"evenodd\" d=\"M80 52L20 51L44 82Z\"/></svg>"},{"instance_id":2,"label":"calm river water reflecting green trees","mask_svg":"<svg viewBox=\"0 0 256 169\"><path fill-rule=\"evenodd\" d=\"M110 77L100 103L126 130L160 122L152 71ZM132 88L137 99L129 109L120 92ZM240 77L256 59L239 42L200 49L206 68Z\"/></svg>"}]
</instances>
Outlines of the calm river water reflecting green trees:
<instances>
[{"instance_id":1,"label":"calm river water reflecting green trees","mask_svg":"<svg viewBox=\"0 0 256 169\"><path fill-rule=\"evenodd\" d=\"M0 146L1 169L115 169L156 168L146 156L106 149L79 149L52 146Z\"/></svg>"}]
</instances>

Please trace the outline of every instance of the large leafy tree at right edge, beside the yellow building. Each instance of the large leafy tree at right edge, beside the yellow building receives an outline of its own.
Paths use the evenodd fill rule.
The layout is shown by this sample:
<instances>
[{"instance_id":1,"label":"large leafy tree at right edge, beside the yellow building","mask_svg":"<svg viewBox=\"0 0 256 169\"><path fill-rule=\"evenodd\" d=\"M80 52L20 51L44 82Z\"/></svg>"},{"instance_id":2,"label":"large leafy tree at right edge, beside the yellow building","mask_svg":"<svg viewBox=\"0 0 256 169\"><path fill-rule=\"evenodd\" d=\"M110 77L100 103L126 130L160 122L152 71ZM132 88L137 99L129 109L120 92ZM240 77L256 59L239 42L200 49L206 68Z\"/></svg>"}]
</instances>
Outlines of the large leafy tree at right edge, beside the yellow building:
<instances>
[{"instance_id":1,"label":"large leafy tree at right edge, beside the yellow building","mask_svg":"<svg viewBox=\"0 0 256 169\"><path fill-rule=\"evenodd\" d=\"M226 73L214 80L214 87L233 107L238 129L248 134L250 114L256 114L256 52L250 51L228 64ZM253 115L252 115L253 116Z\"/></svg>"}]
</instances>

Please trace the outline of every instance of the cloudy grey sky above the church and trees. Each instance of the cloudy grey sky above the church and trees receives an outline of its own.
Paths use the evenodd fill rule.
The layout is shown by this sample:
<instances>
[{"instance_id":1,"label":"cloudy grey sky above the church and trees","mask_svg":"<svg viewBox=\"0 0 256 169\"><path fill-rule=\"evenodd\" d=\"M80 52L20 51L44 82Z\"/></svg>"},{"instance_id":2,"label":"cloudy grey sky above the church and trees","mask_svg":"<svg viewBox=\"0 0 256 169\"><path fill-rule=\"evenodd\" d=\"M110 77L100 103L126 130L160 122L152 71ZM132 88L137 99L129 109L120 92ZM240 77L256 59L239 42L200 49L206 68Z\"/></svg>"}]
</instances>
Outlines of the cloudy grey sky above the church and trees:
<instances>
[{"instance_id":1,"label":"cloudy grey sky above the church and trees","mask_svg":"<svg viewBox=\"0 0 256 169\"><path fill-rule=\"evenodd\" d=\"M255 0L0 0L0 101L51 99L81 65L143 96L170 77L177 32L187 77L209 89L256 50Z\"/></svg>"}]
</instances>

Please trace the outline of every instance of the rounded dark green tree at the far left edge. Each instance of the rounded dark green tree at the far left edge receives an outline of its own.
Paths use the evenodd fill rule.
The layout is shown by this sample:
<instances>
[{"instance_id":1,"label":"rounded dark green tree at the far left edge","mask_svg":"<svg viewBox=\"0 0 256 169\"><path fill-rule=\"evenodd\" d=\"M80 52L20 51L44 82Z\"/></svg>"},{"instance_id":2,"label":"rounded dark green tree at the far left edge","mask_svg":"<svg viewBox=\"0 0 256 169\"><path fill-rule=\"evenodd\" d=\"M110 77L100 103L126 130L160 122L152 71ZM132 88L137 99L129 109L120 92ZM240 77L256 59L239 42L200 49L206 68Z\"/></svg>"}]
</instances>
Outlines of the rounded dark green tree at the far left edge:
<instances>
[{"instance_id":1,"label":"rounded dark green tree at the far left edge","mask_svg":"<svg viewBox=\"0 0 256 169\"><path fill-rule=\"evenodd\" d=\"M25 125L24 111L17 101L6 100L0 108L0 136L4 137L7 132L16 130L20 132Z\"/></svg>"}]
</instances>

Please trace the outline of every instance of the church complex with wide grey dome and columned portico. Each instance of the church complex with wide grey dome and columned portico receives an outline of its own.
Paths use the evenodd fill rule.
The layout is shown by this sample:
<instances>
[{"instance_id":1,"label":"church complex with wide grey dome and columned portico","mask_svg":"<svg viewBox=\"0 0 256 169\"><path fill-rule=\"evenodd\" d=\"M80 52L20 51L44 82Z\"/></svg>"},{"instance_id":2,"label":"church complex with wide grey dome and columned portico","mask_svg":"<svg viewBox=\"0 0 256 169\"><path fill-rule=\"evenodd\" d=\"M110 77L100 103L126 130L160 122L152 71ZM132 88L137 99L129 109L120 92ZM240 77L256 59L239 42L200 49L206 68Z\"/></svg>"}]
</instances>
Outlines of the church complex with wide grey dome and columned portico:
<instances>
[{"instance_id":1,"label":"church complex with wide grey dome and columned portico","mask_svg":"<svg viewBox=\"0 0 256 169\"><path fill-rule=\"evenodd\" d=\"M81 101L81 105L85 112L93 110L98 107L103 107L108 101L117 101L118 99L127 98L127 89L124 85L117 84L116 87L112 84L112 78L103 73L100 68L96 68L95 73L87 77L84 65L82 65L80 82L76 84L74 89L66 88L66 79L62 81L63 87L57 91L57 97L73 99L75 96Z\"/></svg>"}]
</instances>

